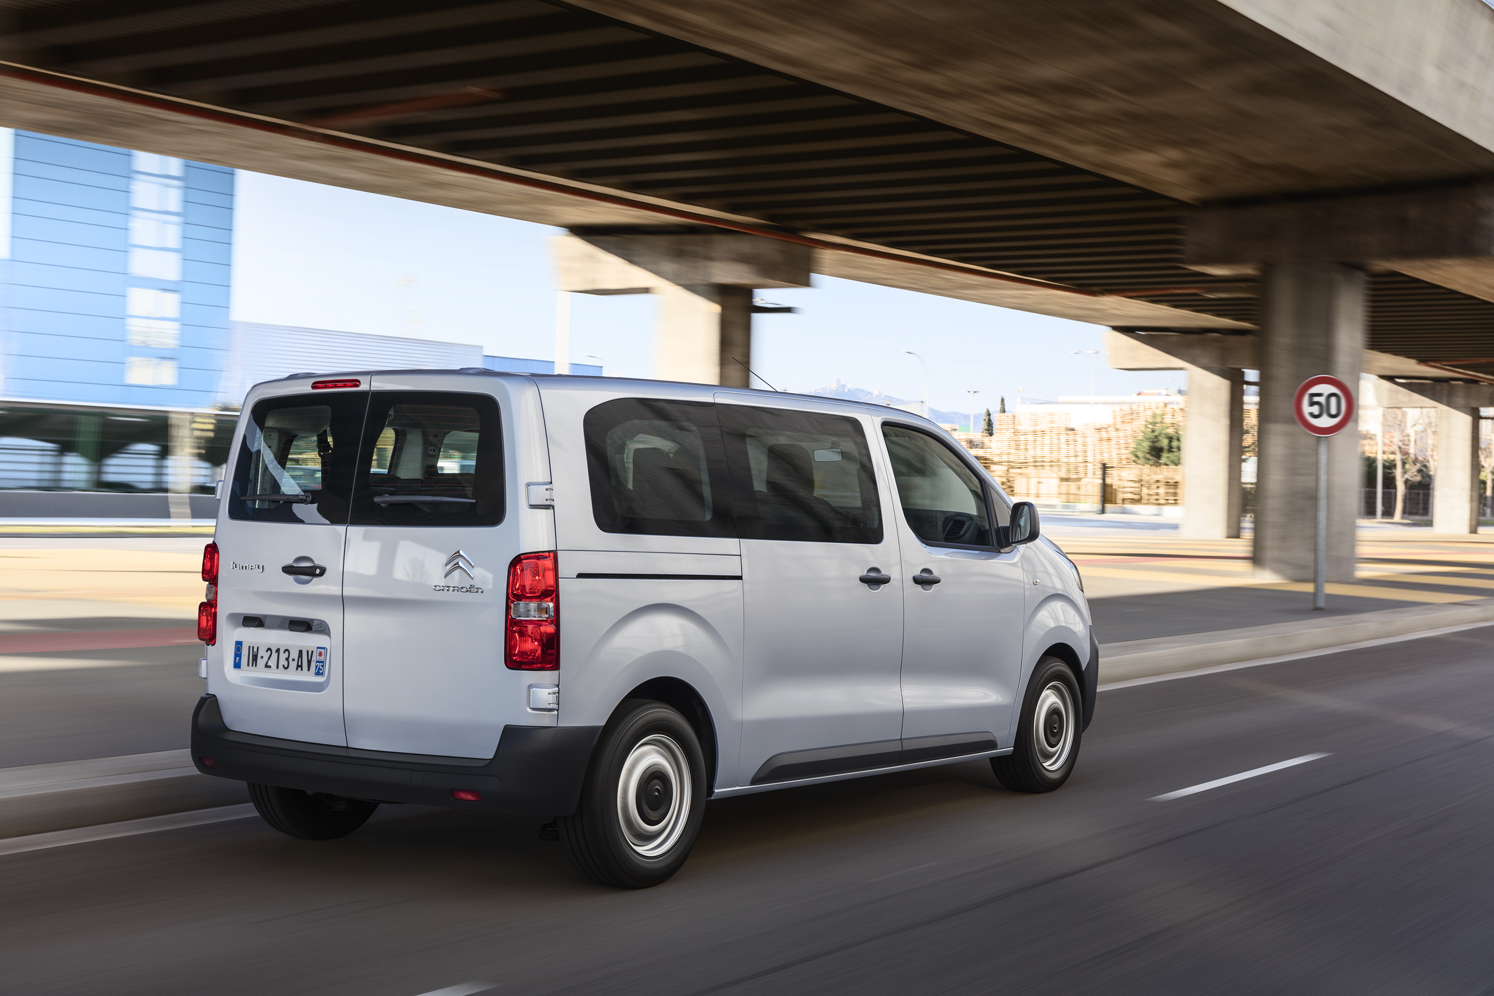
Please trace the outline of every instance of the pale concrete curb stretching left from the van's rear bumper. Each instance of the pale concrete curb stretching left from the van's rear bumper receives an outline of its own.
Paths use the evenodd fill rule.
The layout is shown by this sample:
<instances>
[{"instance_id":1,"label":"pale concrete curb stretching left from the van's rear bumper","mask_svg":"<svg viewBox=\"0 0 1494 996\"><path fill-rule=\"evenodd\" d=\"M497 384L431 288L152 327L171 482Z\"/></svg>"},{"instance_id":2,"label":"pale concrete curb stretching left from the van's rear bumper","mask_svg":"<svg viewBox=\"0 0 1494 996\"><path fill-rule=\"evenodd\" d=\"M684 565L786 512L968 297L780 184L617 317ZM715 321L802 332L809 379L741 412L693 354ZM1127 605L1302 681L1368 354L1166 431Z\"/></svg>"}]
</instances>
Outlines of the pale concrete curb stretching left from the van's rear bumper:
<instances>
[{"instance_id":1,"label":"pale concrete curb stretching left from the van's rear bumper","mask_svg":"<svg viewBox=\"0 0 1494 996\"><path fill-rule=\"evenodd\" d=\"M0 769L0 839L248 802L242 782L209 778L191 751L155 751Z\"/></svg>"}]
</instances>

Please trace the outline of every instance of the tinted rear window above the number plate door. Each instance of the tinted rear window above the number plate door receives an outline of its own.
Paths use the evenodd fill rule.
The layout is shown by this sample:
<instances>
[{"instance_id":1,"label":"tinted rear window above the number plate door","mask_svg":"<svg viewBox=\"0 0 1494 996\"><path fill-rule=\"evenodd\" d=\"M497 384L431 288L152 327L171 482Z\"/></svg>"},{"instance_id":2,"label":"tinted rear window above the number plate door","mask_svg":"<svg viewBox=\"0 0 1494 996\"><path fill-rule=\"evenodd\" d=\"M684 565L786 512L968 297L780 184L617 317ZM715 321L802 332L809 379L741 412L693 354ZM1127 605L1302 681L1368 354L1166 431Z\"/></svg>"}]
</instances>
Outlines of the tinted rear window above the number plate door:
<instances>
[{"instance_id":1,"label":"tinted rear window above the number plate door","mask_svg":"<svg viewBox=\"0 0 1494 996\"><path fill-rule=\"evenodd\" d=\"M362 391L258 402L244 427L229 490L229 518L347 523L366 406L368 396Z\"/></svg>"}]
</instances>

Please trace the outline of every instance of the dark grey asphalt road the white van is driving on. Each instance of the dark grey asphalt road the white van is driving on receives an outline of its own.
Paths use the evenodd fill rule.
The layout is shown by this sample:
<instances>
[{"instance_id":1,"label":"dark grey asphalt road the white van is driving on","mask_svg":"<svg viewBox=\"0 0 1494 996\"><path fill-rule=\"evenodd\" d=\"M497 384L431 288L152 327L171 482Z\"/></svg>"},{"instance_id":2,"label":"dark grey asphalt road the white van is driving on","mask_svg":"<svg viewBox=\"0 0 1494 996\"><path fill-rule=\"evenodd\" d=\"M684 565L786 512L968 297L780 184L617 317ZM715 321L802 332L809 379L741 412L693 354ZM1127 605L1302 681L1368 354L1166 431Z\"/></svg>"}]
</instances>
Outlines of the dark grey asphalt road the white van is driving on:
<instances>
[{"instance_id":1,"label":"dark grey asphalt road the white van is driving on","mask_svg":"<svg viewBox=\"0 0 1494 996\"><path fill-rule=\"evenodd\" d=\"M1047 796L973 763L716 802L638 893L539 820L397 808L12 854L0 992L1490 993L1491 645L1104 691Z\"/></svg>"}]
</instances>

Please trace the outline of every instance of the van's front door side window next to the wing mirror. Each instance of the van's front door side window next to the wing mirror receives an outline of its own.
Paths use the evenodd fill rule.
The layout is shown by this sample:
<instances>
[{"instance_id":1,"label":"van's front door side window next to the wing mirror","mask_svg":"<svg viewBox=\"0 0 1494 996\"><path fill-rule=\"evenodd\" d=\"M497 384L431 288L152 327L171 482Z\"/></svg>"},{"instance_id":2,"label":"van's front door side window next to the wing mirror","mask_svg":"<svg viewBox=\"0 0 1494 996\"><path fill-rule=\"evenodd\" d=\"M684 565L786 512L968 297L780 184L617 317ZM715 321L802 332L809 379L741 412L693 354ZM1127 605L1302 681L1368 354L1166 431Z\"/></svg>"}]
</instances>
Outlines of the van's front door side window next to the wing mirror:
<instances>
[{"instance_id":1,"label":"van's front door side window next to the wing mirror","mask_svg":"<svg viewBox=\"0 0 1494 996\"><path fill-rule=\"evenodd\" d=\"M913 429L884 424L902 515L926 544L992 547L986 488L947 445Z\"/></svg>"}]
</instances>

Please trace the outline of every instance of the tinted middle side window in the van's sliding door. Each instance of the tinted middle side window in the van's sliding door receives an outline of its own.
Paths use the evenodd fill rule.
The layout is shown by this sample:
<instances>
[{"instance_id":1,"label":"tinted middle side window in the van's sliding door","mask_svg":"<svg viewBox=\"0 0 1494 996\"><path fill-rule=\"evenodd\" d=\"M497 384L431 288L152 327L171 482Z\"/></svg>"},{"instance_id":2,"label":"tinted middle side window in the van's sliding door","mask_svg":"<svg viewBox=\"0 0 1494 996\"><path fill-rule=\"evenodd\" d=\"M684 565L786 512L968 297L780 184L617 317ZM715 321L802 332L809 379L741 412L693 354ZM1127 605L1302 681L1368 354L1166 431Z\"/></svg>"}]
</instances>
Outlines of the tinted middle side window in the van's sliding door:
<instances>
[{"instance_id":1,"label":"tinted middle side window in the van's sliding door","mask_svg":"<svg viewBox=\"0 0 1494 996\"><path fill-rule=\"evenodd\" d=\"M743 539L880 544L881 506L855 418L717 405Z\"/></svg>"}]
</instances>

